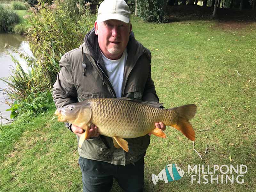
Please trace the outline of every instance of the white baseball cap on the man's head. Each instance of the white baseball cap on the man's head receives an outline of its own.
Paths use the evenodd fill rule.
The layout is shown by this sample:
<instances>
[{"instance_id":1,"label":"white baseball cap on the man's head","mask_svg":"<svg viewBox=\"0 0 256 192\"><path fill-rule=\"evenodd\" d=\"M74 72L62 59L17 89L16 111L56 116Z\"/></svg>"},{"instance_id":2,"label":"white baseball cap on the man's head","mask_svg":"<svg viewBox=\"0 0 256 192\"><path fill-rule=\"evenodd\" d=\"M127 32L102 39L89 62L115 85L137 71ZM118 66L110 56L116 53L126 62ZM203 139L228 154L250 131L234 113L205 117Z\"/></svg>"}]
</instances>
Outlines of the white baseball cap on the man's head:
<instances>
[{"instance_id":1,"label":"white baseball cap on the man's head","mask_svg":"<svg viewBox=\"0 0 256 192\"><path fill-rule=\"evenodd\" d=\"M100 4L97 22L115 19L129 23L131 12L124 0L105 0Z\"/></svg>"}]
</instances>

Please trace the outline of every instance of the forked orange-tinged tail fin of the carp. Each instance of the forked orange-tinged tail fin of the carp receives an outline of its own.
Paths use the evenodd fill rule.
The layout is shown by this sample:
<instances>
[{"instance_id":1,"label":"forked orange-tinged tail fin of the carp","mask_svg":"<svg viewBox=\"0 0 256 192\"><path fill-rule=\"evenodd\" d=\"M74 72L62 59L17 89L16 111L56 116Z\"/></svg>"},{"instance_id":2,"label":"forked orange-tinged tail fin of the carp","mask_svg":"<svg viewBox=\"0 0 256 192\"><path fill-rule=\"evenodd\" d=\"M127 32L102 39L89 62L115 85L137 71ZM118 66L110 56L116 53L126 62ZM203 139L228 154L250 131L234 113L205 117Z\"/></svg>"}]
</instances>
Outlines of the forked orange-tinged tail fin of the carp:
<instances>
[{"instance_id":1,"label":"forked orange-tinged tail fin of the carp","mask_svg":"<svg viewBox=\"0 0 256 192\"><path fill-rule=\"evenodd\" d=\"M196 108L197 106L194 104L173 108L178 113L178 119L176 124L172 125L172 127L182 132L192 141L195 141L195 131L189 123L189 120L196 115Z\"/></svg>"}]
</instances>

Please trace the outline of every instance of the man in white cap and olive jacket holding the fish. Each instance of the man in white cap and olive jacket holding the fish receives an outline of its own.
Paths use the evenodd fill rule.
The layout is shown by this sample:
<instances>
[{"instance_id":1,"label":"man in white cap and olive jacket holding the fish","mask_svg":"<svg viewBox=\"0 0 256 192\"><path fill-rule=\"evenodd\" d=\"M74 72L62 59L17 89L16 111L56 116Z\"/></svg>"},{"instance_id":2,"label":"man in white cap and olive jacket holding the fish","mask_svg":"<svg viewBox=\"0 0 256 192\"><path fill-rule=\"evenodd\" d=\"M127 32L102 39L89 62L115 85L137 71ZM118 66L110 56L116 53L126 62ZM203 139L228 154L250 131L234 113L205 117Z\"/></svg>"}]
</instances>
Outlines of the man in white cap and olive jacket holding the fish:
<instances>
[{"instance_id":1,"label":"man in white cap and olive jacket holding the fish","mask_svg":"<svg viewBox=\"0 0 256 192\"><path fill-rule=\"evenodd\" d=\"M53 87L57 108L89 98L129 97L159 101L151 80L151 54L135 40L130 11L124 0L100 4L94 28L77 49L60 60L61 70ZM67 125L77 135L84 130ZM165 130L165 125L156 123ZM109 191L113 177L124 191L143 191L144 156L150 137L126 139L129 152L113 145L92 125L90 138L78 148L84 191Z\"/></svg>"}]
</instances>

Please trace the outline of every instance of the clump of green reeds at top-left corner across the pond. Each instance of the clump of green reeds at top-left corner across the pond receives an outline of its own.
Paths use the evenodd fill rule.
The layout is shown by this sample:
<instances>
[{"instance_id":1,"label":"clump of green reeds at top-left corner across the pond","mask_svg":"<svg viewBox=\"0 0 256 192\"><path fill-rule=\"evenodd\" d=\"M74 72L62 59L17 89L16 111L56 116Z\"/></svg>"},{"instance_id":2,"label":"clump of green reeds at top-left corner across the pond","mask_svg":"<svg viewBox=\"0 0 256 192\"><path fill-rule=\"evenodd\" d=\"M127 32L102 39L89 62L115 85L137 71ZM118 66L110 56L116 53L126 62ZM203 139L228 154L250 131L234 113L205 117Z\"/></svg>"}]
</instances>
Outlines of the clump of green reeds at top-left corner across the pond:
<instances>
[{"instance_id":1,"label":"clump of green reeds at top-left corner across the pond","mask_svg":"<svg viewBox=\"0 0 256 192\"><path fill-rule=\"evenodd\" d=\"M19 23L19 21L20 18L17 13L0 5L0 32L12 31L13 25Z\"/></svg>"}]
</instances>

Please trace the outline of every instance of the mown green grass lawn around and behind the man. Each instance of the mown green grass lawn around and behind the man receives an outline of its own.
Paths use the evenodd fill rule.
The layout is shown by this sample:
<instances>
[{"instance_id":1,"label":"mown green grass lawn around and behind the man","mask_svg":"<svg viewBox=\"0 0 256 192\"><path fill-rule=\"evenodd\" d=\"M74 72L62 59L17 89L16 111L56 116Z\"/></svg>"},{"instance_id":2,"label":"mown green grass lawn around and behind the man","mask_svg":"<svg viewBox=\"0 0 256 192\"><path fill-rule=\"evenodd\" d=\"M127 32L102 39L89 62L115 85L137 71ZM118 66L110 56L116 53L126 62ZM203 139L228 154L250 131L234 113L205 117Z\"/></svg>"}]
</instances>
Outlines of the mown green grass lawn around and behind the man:
<instances>
[{"instance_id":1,"label":"mown green grass lawn around and behind the man","mask_svg":"<svg viewBox=\"0 0 256 192\"><path fill-rule=\"evenodd\" d=\"M151 136L145 191L255 191L256 24L237 29L222 28L216 21L145 24L136 19L132 24L136 39L152 53L152 79L160 102L165 108L198 106L191 123L203 158L172 127L167 127L166 139ZM0 191L82 191L75 135L53 119L53 113L54 108L29 123L1 127ZM214 150L205 153L206 146ZM243 184L236 183L234 174L234 184L203 184L201 175L199 185L197 173L193 184L184 176L154 185L151 174L171 163L185 172L188 164L209 165L210 171L214 164L244 164L248 171L239 178ZM120 191L116 182L112 191Z\"/></svg>"}]
</instances>

